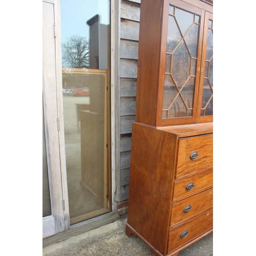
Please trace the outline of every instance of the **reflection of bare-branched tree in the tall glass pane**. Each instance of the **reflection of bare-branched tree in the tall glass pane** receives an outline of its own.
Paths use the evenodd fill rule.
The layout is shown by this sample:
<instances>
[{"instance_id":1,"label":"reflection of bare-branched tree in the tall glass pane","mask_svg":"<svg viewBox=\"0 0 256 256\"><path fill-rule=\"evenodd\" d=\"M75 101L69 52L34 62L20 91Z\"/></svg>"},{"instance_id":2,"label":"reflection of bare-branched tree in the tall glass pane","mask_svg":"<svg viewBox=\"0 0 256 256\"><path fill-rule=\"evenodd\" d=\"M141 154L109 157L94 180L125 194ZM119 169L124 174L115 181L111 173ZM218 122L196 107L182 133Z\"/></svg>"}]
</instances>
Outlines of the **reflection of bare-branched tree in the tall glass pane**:
<instances>
[{"instance_id":1,"label":"reflection of bare-branched tree in the tall glass pane","mask_svg":"<svg viewBox=\"0 0 256 256\"><path fill-rule=\"evenodd\" d=\"M89 40L73 35L62 44L62 67L89 68Z\"/></svg>"}]
</instances>

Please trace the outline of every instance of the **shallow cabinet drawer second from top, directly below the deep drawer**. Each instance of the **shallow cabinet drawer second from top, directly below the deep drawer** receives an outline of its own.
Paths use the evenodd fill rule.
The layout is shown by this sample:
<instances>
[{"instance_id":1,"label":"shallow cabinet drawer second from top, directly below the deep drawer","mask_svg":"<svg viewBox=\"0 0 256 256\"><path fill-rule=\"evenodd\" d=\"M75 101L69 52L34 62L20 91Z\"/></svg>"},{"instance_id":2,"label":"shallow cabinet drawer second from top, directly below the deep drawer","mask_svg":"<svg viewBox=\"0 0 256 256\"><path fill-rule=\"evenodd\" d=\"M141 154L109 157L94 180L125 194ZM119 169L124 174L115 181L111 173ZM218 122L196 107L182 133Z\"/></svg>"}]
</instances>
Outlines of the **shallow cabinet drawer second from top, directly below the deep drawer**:
<instances>
[{"instance_id":1,"label":"shallow cabinet drawer second from top, directly below the deep drawer","mask_svg":"<svg viewBox=\"0 0 256 256\"><path fill-rule=\"evenodd\" d=\"M213 171L198 174L183 180L174 182L173 201L193 195L200 190L210 187L213 184Z\"/></svg>"}]
</instances>

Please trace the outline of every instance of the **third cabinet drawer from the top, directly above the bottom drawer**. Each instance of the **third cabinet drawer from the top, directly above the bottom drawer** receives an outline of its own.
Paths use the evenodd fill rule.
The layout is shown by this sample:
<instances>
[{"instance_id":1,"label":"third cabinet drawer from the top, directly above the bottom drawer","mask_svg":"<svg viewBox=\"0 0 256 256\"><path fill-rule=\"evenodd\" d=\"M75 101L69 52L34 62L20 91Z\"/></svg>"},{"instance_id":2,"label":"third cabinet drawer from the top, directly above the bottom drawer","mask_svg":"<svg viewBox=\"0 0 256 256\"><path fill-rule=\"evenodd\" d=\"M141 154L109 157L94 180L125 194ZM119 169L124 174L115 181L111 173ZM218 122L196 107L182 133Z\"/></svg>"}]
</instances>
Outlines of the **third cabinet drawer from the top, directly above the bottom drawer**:
<instances>
[{"instance_id":1,"label":"third cabinet drawer from the top, directly above the bottom drawer","mask_svg":"<svg viewBox=\"0 0 256 256\"><path fill-rule=\"evenodd\" d=\"M212 208L213 202L213 189L210 188L196 196L173 204L171 225L173 226L181 221L196 216L208 208Z\"/></svg>"}]
</instances>

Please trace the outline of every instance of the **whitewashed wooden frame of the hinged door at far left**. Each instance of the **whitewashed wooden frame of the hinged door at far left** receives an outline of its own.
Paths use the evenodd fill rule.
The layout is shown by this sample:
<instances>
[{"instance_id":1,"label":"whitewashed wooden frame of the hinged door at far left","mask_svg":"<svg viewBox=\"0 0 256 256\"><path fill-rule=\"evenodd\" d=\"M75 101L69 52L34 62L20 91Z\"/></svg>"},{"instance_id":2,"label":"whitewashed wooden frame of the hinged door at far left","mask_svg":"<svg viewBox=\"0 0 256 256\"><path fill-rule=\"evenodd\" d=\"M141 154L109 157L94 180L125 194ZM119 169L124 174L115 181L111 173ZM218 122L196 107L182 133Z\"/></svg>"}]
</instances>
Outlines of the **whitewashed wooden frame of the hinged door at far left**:
<instances>
[{"instance_id":1,"label":"whitewashed wooden frame of the hinged door at far left","mask_svg":"<svg viewBox=\"0 0 256 256\"><path fill-rule=\"evenodd\" d=\"M56 77L56 6L53 1L42 1L43 45L42 45L42 96L44 107L46 155L51 200L51 215L42 218L43 238L65 230L64 199L62 194L62 174L59 154L59 125Z\"/></svg>"}]
</instances>

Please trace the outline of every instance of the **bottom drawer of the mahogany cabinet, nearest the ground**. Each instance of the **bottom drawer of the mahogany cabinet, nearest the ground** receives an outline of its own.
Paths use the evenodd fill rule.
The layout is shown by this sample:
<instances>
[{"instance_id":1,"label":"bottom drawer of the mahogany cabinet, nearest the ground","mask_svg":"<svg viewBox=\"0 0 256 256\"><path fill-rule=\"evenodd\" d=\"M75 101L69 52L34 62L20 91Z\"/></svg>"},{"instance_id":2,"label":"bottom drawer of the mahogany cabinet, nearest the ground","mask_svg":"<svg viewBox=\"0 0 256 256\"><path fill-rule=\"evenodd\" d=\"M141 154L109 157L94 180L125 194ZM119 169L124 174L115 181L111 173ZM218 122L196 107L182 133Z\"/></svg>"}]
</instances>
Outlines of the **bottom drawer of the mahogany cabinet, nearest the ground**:
<instances>
[{"instance_id":1,"label":"bottom drawer of the mahogany cabinet, nearest the ground","mask_svg":"<svg viewBox=\"0 0 256 256\"><path fill-rule=\"evenodd\" d=\"M191 219L176 228L170 229L168 239L168 253L200 236L200 234L209 231L212 227L213 210L210 209L195 217L194 219Z\"/></svg>"}]
</instances>

